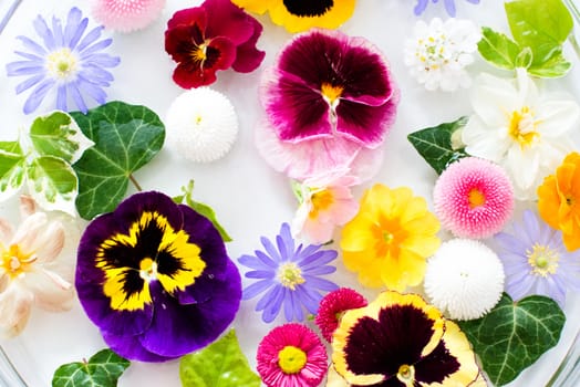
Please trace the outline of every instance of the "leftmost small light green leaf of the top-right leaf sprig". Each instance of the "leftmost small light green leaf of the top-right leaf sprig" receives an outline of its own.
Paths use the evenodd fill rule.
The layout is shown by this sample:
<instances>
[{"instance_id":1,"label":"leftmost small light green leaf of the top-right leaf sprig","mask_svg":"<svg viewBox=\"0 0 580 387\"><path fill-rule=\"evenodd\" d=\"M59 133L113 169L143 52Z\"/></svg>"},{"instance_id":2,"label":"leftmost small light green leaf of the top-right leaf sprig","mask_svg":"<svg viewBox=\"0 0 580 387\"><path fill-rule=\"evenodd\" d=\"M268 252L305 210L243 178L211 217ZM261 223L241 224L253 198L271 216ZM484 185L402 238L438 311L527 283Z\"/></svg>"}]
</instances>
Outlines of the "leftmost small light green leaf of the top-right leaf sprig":
<instances>
[{"instance_id":1,"label":"leftmost small light green leaf of the top-right leaf sprig","mask_svg":"<svg viewBox=\"0 0 580 387\"><path fill-rule=\"evenodd\" d=\"M521 52L518 43L488 27L484 27L481 33L483 38L477 43L481 56L498 67L514 70L518 54Z\"/></svg>"}]
</instances>

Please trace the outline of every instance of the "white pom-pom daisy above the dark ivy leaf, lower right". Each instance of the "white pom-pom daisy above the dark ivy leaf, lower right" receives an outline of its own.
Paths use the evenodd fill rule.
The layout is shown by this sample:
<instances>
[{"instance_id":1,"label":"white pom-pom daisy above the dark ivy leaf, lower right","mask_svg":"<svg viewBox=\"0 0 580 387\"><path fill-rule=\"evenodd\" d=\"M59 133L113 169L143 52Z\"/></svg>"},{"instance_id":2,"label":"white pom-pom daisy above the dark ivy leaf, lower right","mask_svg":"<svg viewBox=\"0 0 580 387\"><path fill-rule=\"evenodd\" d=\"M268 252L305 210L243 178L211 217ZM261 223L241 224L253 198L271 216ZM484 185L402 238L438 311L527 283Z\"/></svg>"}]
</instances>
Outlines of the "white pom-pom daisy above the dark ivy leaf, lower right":
<instances>
[{"instance_id":1,"label":"white pom-pom daisy above the dark ivy leaf, lower right","mask_svg":"<svg viewBox=\"0 0 580 387\"><path fill-rule=\"evenodd\" d=\"M479 241L453 239L427 261L425 292L450 318L474 320L497 304L504 280L504 266L491 249Z\"/></svg>"}]
</instances>

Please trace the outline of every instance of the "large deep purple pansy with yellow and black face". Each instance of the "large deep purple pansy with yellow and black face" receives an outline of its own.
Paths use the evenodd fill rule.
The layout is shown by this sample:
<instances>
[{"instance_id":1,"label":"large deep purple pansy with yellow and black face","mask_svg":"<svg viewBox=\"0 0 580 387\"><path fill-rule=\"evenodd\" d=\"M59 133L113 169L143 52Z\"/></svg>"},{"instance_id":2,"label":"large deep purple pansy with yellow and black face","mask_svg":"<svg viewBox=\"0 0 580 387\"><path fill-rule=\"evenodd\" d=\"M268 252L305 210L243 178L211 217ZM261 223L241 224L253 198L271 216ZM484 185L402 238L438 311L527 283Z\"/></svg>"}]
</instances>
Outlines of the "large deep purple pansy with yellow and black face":
<instances>
[{"instance_id":1,"label":"large deep purple pansy with yellow and black face","mask_svg":"<svg viewBox=\"0 0 580 387\"><path fill-rule=\"evenodd\" d=\"M142 362L211 343L241 299L240 274L211 222L154 191L133 195L86 227L75 286L107 345Z\"/></svg>"}]
</instances>

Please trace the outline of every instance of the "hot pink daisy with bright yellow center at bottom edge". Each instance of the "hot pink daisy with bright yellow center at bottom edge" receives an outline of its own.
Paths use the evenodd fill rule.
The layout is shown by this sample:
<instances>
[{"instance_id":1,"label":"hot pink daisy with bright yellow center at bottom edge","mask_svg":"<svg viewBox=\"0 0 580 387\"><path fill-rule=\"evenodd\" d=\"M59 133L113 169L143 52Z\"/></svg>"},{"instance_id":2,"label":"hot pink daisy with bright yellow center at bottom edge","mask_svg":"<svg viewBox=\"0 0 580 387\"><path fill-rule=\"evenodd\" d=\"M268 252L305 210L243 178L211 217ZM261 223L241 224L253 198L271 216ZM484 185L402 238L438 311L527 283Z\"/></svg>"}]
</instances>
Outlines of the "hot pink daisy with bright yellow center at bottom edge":
<instances>
[{"instance_id":1,"label":"hot pink daisy with bright yellow center at bottom edge","mask_svg":"<svg viewBox=\"0 0 580 387\"><path fill-rule=\"evenodd\" d=\"M302 324L284 324L270 331L256 357L267 387L318 387L327 375L327 349Z\"/></svg>"}]
</instances>

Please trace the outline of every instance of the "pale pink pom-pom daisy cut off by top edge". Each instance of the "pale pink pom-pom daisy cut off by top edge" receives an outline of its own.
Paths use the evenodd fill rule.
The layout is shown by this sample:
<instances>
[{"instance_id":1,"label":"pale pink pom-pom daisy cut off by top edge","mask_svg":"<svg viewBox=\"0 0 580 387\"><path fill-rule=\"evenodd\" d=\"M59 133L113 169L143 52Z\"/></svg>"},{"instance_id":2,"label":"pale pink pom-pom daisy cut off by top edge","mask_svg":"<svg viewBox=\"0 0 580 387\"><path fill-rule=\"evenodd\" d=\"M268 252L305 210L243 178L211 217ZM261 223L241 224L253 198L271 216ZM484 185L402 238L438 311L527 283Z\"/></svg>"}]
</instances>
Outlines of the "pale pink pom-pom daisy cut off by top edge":
<instances>
[{"instance_id":1,"label":"pale pink pom-pom daisy cut off by top edge","mask_svg":"<svg viewBox=\"0 0 580 387\"><path fill-rule=\"evenodd\" d=\"M132 32L159 17L165 0L93 0L93 17L105 28Z\"/></svg>"}]
</instances>

